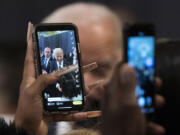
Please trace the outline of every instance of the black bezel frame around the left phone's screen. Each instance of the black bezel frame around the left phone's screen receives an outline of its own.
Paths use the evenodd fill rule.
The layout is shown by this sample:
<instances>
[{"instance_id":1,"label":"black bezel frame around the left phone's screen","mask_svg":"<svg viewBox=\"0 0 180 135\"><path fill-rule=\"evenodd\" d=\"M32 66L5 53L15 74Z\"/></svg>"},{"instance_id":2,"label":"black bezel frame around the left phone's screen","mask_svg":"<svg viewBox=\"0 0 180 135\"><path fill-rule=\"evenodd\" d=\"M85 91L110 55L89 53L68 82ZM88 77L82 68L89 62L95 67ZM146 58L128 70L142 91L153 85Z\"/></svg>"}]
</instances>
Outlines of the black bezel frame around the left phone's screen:
<instances>
[{"instance_id":1,"label":"black bezel frame around the left phone's screen","mask_svg":"<svg viewBox=\"0 0 180 135\"><path fill-rule=\"evenodd\" d=\"M81 111L84 108L84 78L82 75L82 63L81 63L81 54L80 54L80 42L79 42L79 36L78 36L78 29L76 25L72 23L41 23L34 27L33 32L33 39L34 39L34 56L35 56L35 66L36 66L36 75L39 76L42 74L41 71L41 64L40 64L40 53L39 53L39 43L38 43L38 35L37 32L39 31L56 31L56 30L73 30L75 41L76 41L76 51L77 51L77 57L78 57L78 66L79 66L79 74L80 74L80 82L81 82L81 88L82 88L82 104L78 106L72 106L72 108L64 108L61 110L58 110L58 107L48 107L46 104L46 101L42 95L43 99L43 109L45 113L65 113L65 112L71 112L71 111ZM42 92L43 93L43 92ZM51 108L51 109L50 109Z\"/></svg>"}]
</instances>

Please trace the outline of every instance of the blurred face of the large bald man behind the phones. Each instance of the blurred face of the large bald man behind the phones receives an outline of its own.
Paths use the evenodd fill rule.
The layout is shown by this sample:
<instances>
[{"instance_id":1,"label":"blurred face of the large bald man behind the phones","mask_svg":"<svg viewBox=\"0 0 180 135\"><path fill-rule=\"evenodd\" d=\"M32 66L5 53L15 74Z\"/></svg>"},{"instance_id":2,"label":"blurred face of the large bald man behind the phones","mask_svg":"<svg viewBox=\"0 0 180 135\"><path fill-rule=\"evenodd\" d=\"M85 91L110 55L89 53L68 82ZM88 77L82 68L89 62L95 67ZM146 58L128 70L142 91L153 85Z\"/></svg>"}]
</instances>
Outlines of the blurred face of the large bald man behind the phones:
<instances>
[{"instance_id":1,"label":"blurred face of the large bald man behind the phones","mask_svg":"<svg viewBox=\"0 0 180 135\"><path fill-rule=\"evenodd\" d=\"M108 24L106 24L108 25ZM97 62L98 68L85 73L84 80L86 85L93 84L95 81L110 80L112 71L117 62L121 59L120 49L117 47L117 38L111 26L95 26L91 29L80 29L81 53L83 65ZM101 90L95 90L101 92ZM102 93L95 93L94 96L100 98ZM95 97L96 98L96 97Z\"/></svg>"}]
</instances>

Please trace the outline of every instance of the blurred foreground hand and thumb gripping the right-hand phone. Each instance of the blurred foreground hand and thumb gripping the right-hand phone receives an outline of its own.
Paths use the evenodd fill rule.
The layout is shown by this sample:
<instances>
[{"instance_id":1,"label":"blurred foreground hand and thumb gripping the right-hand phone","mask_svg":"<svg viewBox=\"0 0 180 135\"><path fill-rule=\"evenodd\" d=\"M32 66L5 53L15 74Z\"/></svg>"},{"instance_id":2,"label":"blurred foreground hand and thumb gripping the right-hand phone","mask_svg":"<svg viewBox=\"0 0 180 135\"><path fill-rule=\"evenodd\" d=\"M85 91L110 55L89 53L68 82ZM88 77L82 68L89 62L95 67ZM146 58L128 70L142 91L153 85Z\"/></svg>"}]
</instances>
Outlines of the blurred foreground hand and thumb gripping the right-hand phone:
<instances>
[{"instance_id":1,"label":"blurred foreground hand and thumb gripping the right-hand phone","mask_svg":"<svg viewBox=\"0 0 180 135\"><path fill-rule=\"evenodd\" d=\"M137 105L134 69L118 64L104 87L103 135L144 135L145 118Z\"/></svg>"}]
</instances>

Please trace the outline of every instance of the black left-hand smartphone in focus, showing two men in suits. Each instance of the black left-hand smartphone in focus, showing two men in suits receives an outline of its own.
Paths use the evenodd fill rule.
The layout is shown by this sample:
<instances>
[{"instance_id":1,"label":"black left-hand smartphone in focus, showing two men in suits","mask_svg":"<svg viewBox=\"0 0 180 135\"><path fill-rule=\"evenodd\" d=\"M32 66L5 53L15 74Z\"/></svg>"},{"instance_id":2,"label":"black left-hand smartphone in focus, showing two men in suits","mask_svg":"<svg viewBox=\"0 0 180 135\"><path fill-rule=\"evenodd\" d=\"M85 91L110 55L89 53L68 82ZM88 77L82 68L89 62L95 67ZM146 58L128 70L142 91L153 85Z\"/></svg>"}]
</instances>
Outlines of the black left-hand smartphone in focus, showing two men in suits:
<instances>
[{"instance_id":1,"label":"black left-hand smartphone in focus, showing two men in suits","mask_svg":"<svg viewBox=\"0 0 180 135\"><path fill-rule=\"evenodd\" d=\"M34 27L34 57L37 76L64 67L67 72L42 92L47 113L69 113L84 107L84 81L78 29L72 23L44 23Z\"/></svg>"}]
</instances>

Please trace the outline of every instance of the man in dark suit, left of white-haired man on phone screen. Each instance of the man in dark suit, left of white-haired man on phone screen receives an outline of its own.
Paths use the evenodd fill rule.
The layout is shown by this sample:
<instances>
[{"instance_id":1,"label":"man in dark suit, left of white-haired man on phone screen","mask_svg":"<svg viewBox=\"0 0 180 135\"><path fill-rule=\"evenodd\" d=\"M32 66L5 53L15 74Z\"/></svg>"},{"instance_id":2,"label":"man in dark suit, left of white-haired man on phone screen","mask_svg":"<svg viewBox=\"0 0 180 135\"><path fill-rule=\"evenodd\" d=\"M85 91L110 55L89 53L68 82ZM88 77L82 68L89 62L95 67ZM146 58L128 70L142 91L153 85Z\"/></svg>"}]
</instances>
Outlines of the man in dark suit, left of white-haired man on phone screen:
<instances>
[{"instance_id":1,"label":"man in dark suit, left of white-haired man on phone screen","mask_svg":"<svg viewBox=\"0 0 180 135\"><path fill-rule=\"evenodd\" d=\"M50 73L50 65L52 61L53 58L51 57L51 48L44 48L44 56L41 58L41 67L43 74Z\"/></svg>"}]
</instances>

